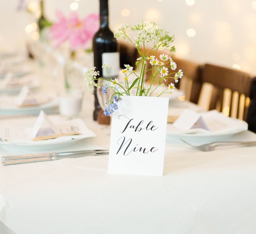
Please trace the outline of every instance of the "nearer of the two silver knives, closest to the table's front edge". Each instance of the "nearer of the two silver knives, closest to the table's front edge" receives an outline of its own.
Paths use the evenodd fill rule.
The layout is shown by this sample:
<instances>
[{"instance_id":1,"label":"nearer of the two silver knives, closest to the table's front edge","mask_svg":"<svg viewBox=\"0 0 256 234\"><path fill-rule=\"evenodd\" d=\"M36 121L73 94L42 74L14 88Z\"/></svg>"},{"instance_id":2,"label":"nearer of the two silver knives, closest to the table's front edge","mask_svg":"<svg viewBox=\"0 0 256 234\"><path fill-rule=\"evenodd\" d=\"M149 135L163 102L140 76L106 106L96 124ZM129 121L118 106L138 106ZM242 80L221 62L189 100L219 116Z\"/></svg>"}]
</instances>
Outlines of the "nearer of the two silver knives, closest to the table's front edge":
<instances>
[{"instance_id":1,"label":"nearer of the two silver knives, closest to the table's front edge","mask_svg":"<svg viewBox=\"0 0 256 234\"><path fill-rule=\"evenodd\" d=\"M13 164L20 164L20 163L29 163L29 162L44 162L44 161L52 161L58 159L67 159L67 158L78 158L78 157L86 157L86 156L96 156L96 155L106 155L109 154L108 151L105 152L94 152L94 153L84 153L84 154L68 154L68 155L58 155L58 154L51 154L51 156L43 156L37 158L21 158L16 160L6 160L2 161L2 165L13 165Z\"/></svg>"}]
</instances>

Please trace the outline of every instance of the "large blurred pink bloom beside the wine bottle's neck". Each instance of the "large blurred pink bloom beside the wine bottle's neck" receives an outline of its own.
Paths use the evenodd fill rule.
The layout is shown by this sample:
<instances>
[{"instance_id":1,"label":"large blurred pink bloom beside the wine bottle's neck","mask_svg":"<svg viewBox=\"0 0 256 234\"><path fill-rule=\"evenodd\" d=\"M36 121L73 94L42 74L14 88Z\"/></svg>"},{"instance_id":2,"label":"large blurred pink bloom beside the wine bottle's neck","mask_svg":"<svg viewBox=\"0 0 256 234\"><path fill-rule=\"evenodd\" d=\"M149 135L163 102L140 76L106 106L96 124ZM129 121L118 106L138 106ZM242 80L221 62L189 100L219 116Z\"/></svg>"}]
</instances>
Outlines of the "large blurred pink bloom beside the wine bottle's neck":
<instances>
[{"instance_id":1,"label":"large blurred pink bloom beside the wine bottle's neck","mask_svg":"<svg viewBox=\"0 0 256 234\"><path fill-rule=\"evenodd\" d=\"M69 40L72 51L84 48L99 28L99 15L97 14L90 14L82 20L78 19L75 12L68 18L59 11L56 14L58 22L52 25L50 33L51 38L57 41L57 47Z\"/></svg>"}]
</instances>

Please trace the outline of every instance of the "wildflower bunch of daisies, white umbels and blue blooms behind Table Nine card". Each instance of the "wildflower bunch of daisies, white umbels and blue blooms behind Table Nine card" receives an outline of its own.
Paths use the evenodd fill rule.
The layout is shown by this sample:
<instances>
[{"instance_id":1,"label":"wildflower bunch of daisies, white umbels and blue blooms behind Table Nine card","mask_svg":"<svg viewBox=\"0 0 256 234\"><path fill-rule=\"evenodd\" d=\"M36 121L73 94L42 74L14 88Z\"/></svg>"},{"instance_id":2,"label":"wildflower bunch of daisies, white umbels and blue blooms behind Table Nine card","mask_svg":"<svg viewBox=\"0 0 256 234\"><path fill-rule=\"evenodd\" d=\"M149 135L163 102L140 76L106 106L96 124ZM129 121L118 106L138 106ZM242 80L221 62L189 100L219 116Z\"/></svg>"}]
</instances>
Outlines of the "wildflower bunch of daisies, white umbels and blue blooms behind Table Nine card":
<instances>
[{"instance_id":1,"label":"wildflower bunch of daisies, white umbels and blue blooms behind Table Nine card","mask_svg":"<svg viewBox=\"0 0 256 234\"><path fill-rule=\"evenodd\" d=\"M134 37L133 40L128 36L129 32L136 31L137 37ZM111 91L111 98L108 103L108 106L104 110L105 115L111 115L115 110L118 109L118 102L122 100L122 95L136 95L136 96L151 96L154 91L162 86L163 90L157 96L162 95L163 93L172 93L172 89L175 88L174 83L178 82L179 78L182 78L182 70L175 71L177 68L176 63L172 60L171 57L165 53L161 54L159 58L156 58L154 54L158 49L168 50L172 54L176 51L174 46L171 46L171 43L174 40L174 36L170 36L169 32L165 29L159 29L155 22L140 22L140 24L135 24L130 26L128 24L120 27L116 32L114 32L114 37L118 39L129 40L137 49L141 57L136 61L136 70L133 69L129 64L125 64L125 69L122 69L120 73L123 75L123 82L119 82L117 78L114 80L109 78L100 77L96 67L88 69L85 73L85 83L87 85L87 90L91 93L94 92L93 86L101 88L102 94L107 94ZM149 51L146 51L146 43L153 45ZM151 68L146 70L147 62L150 63ZM141 64L141 68L140 68ZM103 64L102 68L108 69L112 67L111 65ZM169 71L170 69L170 71ZM150 72L150 83L145 83L145 74ZM134 74L131 79L129 76ZM169 86L164 86L163 80L173 79L173 83L170 82ZM98 85L97 80L103 80L103 86ZM157 85L153 85L157 83Z\"/></svg>"}]
</instances>

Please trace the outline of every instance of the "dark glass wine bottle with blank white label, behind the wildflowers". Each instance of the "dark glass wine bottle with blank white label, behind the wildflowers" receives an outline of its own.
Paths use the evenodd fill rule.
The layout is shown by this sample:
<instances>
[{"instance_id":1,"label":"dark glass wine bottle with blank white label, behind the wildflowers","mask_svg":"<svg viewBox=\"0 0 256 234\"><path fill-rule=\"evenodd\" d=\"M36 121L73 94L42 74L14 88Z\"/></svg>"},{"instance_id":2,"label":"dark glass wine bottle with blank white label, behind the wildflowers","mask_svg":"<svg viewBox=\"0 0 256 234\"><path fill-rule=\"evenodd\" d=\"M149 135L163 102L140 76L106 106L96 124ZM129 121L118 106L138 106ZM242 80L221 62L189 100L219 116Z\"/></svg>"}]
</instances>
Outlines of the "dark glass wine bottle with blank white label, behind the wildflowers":
<instances>
[{"instance_id":1,"label":"dark glass wine bottle with blank white label, behind the wildflowers","mask_svg":"<svg viewBox=\"0 0 256 234\"><path fill-rule=\"evenodd\" d=\"M99 71L99 76L115 78L119 72L119 53L117 40L114 38L113 32L109 28L109 6L108 0L100 0L100 28L93 36L93 58L94 67ZM107 64L112 67L102 69L102 65ZM100 111L100 105L97 97L96 87L94 87L94 112L93 120L97 120Z\"/></svg>"}]
</instances>

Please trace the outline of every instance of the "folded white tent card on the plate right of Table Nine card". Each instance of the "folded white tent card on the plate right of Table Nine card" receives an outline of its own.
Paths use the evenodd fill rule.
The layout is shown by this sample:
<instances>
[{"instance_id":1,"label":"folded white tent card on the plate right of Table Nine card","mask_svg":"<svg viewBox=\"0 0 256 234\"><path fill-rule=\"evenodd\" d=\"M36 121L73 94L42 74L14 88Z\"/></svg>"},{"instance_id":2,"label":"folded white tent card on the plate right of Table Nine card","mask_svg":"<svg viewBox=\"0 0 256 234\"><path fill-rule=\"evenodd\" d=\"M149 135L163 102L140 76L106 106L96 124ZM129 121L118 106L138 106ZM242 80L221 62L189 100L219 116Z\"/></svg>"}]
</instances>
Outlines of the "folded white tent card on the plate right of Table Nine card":
<instances>
[{"instance_id":1,"label":"folded white tent card on the plate right of Table Nine card","mask_svg":"<svg viewBox=\"0 0 256 234\"><path fill-rule=\"evenodd\" d=\"M203 128L209 130L201 114L198 114L189 109L185 109L179 118L173 123L173 126L182 129L189 130L191 128Z\"/></svg>"}]
</instances>

